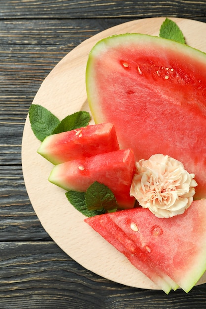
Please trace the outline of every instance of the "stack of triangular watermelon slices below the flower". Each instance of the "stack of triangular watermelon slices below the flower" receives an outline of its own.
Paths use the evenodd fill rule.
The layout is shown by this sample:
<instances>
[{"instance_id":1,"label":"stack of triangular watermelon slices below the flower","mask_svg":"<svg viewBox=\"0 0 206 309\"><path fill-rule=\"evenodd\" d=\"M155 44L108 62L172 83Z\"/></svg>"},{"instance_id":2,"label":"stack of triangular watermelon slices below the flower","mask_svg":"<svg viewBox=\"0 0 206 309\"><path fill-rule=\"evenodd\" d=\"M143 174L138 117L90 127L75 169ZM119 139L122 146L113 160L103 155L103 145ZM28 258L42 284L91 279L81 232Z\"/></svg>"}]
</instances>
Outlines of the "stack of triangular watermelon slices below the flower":
<instances>
[{"instance_id":1,"label":"stack of triangular watermelon slices below the flower","mask_svg":"<svg viewBox=\"0 0 206 309\"><path fill-rule=\"evenodd\" d=\"M193 201L184 214L172 218L157 218L148 209L133 208L85 222L154 282L154 272L158 281L162 271L164 289L168 276L170 284L174 281L189 292L206 270L206 199ZM142 264L148 269L142 269Z\"/></svg>"}]
</instances>

